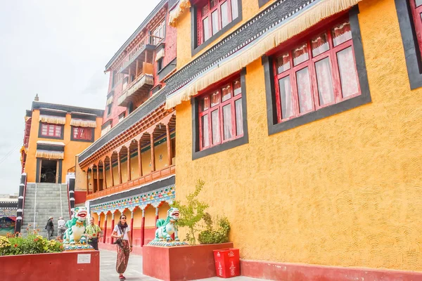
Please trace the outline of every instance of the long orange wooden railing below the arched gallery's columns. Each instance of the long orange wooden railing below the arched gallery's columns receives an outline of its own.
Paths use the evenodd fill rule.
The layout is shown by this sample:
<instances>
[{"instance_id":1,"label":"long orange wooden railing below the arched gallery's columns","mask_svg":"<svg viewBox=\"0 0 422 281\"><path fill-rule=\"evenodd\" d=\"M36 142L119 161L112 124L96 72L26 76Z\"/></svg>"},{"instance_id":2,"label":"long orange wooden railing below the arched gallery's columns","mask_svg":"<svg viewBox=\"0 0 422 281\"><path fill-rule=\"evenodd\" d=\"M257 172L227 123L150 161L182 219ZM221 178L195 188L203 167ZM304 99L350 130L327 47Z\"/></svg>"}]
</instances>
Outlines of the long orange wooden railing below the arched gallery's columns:
<instances>
[{"instance_id":1,"label":"long orange wooden railing below the arched gallery's columns","mask_svg":"<svg viewBox=\"0 0 422 281\"><path fill-rule=\"evenodd\" d=\"M106 195L112 195L116 192L122 192L124 190L130 190L138 185L143 185L145 183L151 183L152 181L157 180L158 178L165 178L170 175L174 175L176 173L176 166L167 166L165 169L161 169L160 171L153 171L151 174L141 176L140 178L136 178L132 181L128 181L126 183L121 183L119 185L112 186L107 188L106 190L101 190L98 192L91 193L87 195L87 200L94 200Z\"/></svg>"}]
</instances>

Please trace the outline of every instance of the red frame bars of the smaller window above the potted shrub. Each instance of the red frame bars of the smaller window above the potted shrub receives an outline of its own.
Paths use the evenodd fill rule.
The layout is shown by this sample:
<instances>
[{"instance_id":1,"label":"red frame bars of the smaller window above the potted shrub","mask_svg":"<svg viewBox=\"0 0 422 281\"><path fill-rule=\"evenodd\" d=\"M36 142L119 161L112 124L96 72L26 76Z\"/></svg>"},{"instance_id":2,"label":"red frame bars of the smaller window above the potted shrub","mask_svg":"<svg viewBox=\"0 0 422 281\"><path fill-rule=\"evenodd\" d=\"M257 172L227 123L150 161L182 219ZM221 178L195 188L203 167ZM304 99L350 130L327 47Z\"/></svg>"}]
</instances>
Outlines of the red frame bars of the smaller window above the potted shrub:
<instances>
[{"instance_id":1,"label":"red frame bars of the smaller window above the potted shrub","mask_svg":"<svg viewBox=\"0 0 422 281\"><path fill-rule=\"evenodd\" d=\"M238 86L236 89L240 89L240 93L234 93L234 87ZM226 89L227 86L230 86L230 98L222 101L222 89ZM214 93L218 93L219 95L219 102L211 107L211 96ZM199 117L199 141L200 150L205 150L207 148L212 148L214 146L220 145L222 143L226 143L229 141L233 141L236 138L243 137L243 104L242 104L242 87L241 87L241 78L231 79L229 82L222 84L222 86L218 86L217 88L207 91L207 93L202 94L198 97L198 117ZM241 111L241 133L237 134L237 122L236 122L236 101L241 100L242 111ZM225 105L231 105L231 138L224 139L224 115L223 115L223 107ZM217 110L218 119L219 119L219 141L216 143L212 142L212 112ZM203 117L207 117L207 126L208 126L208 144L204 145L204 135L205 132L203 131Z\"/></svg>"}]
</instances>

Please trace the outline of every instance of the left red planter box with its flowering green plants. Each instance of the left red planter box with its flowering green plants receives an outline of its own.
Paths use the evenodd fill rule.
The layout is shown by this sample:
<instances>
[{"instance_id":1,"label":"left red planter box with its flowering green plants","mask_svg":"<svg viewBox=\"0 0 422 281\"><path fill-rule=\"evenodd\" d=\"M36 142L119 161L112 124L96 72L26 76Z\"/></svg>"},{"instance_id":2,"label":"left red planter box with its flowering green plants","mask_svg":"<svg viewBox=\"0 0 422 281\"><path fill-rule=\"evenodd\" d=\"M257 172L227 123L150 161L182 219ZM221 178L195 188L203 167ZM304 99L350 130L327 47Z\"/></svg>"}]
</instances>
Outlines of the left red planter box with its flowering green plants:
<instances>
[{"instance_id":1,"label":"left red planter box with its flowering green plants","mask_svg":"<svg viewBox=\"0 0 422 281\"><path fill-rule=\"evenodd\" d=\"M29 228L27 229L29 230ZM61 281L100 279L98 251L63 251L63 244L47 240L37 231L0 236L0 264L7 270L1 280L44 280L48 272L65 272Z\"/></svg>"}]
</instances>

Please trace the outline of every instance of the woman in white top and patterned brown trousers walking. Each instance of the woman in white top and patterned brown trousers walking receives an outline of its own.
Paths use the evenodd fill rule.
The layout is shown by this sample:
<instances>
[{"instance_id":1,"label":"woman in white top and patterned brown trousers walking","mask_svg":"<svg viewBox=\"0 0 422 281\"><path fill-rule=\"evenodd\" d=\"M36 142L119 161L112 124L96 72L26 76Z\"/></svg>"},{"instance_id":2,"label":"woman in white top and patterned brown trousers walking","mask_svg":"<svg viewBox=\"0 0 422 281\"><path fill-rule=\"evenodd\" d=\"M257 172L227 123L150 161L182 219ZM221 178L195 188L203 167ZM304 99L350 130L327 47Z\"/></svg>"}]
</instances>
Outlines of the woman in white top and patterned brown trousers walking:
<instances>
[{"instance_id":1,"label":"woman in white top and patterned brown trousers walking","mask_svg":"<svg viewBox=\"0 0 422 281\"><path fill-rule=\"evenodd\" d=\"M117 261L116 270L119 273L119 279L125 280L123 276L124 271L127 268L127 261L129 261L129 253L132 251L132 237L130 235L131 229L127 226L126 216L122 214L120 221L115 226L111 237L116 238L115 244L117 244Z\"/></svg>"}]
</instances>

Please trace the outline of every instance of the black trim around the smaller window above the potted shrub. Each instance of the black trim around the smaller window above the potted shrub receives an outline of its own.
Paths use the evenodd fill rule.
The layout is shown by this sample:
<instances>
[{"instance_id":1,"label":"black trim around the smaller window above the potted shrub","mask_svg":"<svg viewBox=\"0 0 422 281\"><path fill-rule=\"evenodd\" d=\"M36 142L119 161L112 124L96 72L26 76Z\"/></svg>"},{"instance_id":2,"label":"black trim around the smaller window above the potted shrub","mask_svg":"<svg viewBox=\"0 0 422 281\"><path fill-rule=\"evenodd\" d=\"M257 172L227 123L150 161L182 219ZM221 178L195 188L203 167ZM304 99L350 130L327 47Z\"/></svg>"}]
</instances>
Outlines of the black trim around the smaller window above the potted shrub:
<instances>
[{"instance_id":1,"label":"black trim around the smaller window above the potted shrub","mask_svg":"<svg viewBox=\"0 0 422 281\"><path fill-rule=\"evenodd\" d=\"M243 136L233 141L228 141L220 145L199 150L199 118L198 118L198 98L191 98L192 105L192 160L199 159L208 155L213 155L224 150L236 148L236 146L249 143L248 135L248 114L246 108L246 68L241 70L241 87L242 87L242 119L243 119Z\"/></svg>"}]
</instances>

